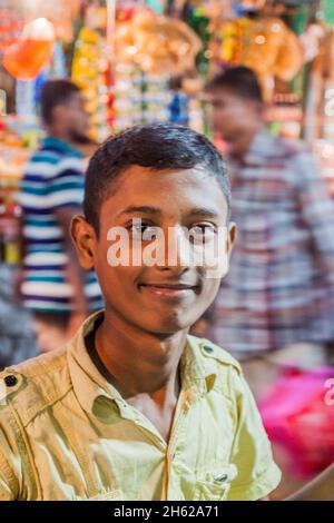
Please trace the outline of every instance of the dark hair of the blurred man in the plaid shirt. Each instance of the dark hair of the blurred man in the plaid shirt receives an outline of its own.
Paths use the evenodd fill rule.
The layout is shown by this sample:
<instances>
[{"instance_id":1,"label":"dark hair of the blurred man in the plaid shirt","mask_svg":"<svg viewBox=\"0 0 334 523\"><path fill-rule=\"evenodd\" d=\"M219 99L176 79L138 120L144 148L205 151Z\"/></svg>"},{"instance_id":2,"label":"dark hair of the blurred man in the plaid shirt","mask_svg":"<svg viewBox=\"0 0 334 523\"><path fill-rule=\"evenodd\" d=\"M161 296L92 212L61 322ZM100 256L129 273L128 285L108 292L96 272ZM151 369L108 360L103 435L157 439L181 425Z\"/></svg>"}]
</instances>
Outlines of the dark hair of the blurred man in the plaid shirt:
<instances>
[{"instance_id":1,"label":"dark hair of the blurred man in the plaid shirt","mask_svg":"<svg viewBox=\"0 0 334 523\"><path fill-rule=\"evenodd\" d=\"M207 89L227 89L233 95L246 100L263 102L263 92L256 73L248 67L238 66L226 69L217 75Z\"/></svg>"}]
</instances>

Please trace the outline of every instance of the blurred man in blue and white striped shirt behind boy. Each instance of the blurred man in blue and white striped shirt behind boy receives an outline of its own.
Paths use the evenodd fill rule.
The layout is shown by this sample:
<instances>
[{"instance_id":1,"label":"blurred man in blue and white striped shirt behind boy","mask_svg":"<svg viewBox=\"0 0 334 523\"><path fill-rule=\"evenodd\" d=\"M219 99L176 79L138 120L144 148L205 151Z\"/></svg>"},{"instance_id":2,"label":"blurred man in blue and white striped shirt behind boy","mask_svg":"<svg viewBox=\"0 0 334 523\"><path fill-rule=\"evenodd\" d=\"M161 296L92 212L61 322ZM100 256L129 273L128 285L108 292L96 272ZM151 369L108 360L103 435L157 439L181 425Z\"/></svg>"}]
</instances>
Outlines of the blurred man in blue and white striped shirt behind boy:
<instances>
[{"instance_id":1,"label":"blurred man in blue and white striped shirt behind boy","mask_svg":"<svg viewBox=\"0 0 334 523\"><path fill-rule=\"evenodd\" d=\"M85 101L75 83L61 79L43 85L40 105L47 137L28 162L20 194L20 292L33 313L38 345L47 352L70 338L102 303L95 274L80 268L69 235L84 199L84 150L92 151Z\"/></svg>"}]
</instances>

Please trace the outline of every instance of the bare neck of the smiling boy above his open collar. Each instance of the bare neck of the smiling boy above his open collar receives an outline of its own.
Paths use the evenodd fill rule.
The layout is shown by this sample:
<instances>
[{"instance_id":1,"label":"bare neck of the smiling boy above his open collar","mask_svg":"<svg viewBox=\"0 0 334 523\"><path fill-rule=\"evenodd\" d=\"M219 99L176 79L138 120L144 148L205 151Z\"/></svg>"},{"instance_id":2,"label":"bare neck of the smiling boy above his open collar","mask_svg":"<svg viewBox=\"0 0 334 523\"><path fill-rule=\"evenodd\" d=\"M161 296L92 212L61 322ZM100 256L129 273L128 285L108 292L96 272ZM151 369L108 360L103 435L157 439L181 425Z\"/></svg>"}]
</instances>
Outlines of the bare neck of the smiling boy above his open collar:
<instances>
[{"instance_id":1,"label":"bare neck of the smiling boy above his open collar","mask_svg":"<svg viewBox=\"0 0 334 523\"><path fill-rule=\"evenodd\" d=\"M106 310L96 351L124 398L146 394L164 409L179 394L178 367L187 333L155 335Z\"/></svg>"}]
</instances>

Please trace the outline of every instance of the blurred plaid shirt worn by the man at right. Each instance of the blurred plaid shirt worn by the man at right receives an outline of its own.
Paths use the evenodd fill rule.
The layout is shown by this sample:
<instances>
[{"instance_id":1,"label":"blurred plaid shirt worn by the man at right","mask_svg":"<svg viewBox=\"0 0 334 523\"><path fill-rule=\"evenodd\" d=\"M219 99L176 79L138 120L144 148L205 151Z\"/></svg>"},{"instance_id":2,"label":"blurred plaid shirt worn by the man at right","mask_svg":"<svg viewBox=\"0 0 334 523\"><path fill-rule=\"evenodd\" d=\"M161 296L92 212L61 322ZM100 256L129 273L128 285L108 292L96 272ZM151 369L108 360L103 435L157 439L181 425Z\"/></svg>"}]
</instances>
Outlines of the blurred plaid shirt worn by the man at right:
<instances>
[{"instance_id":1,"label":"blurred plaid shirt worn by the man at right","mask_svg":"<svg viewBox=\"0 0 334 523\"><path fill-rule=\"evenodd\" d=\"M261 131L232 162L230 269L208 337L237 357L334 339L334 204L301 144Z\"/></svg>"}]
</instances>

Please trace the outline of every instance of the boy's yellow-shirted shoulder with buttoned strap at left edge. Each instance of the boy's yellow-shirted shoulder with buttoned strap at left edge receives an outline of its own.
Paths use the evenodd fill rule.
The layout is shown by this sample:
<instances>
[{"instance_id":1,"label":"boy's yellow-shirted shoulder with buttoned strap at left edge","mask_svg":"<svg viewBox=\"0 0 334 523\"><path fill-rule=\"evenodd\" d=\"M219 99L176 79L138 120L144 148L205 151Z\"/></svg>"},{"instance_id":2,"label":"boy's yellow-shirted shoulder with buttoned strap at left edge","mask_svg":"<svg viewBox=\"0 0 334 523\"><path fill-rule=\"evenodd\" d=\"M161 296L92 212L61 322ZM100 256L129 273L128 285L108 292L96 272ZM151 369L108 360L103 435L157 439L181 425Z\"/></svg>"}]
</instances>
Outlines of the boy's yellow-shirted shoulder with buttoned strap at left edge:
<instances>
[{"instance_id":1,"label":"boy's yellow-shirted shoulder with buttoned strap at left edge","mask_svg":"<svg viewBox=\"0 0 334 523\"><path fill-rule=\"evenodd\" d=\"M0 373L1 418L14 411L23 426L70 388L67 347L27 359Z\"/></svg>"}]
</instances>

